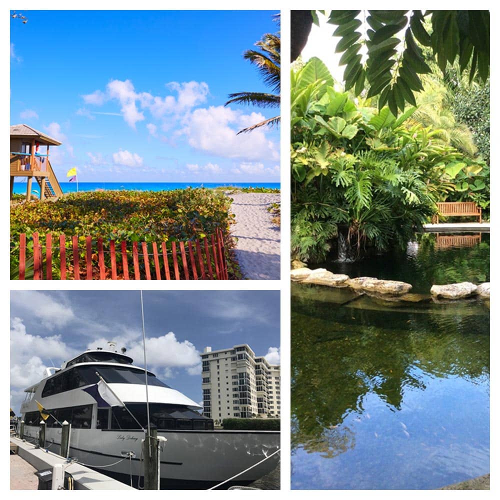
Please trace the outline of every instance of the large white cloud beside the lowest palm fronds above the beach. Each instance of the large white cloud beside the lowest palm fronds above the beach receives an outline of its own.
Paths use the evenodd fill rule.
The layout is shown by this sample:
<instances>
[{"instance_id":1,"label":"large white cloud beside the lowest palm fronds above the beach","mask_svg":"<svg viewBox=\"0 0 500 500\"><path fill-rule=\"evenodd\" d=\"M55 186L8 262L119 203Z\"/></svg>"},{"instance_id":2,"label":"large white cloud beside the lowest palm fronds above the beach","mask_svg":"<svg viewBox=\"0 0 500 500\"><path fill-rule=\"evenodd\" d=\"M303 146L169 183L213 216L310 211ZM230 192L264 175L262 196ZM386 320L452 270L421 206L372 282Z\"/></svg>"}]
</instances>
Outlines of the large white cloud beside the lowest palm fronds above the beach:
<instances>
[{"instance_id":1,"label":"large white cloud beside the lowest palm fronds above the beach","mask_svg":"<svg viewBox=\"0 0 500 500\"><path fill-rule=\"evenodd\" d=\"M247 161L277 160L277 146L266 138L262 129L237 135L241 128L263 119L259 113L242 114L224 106L198 108L185 117L181 133L194 149L218 156Z\"/></svg>"}]
</instances>

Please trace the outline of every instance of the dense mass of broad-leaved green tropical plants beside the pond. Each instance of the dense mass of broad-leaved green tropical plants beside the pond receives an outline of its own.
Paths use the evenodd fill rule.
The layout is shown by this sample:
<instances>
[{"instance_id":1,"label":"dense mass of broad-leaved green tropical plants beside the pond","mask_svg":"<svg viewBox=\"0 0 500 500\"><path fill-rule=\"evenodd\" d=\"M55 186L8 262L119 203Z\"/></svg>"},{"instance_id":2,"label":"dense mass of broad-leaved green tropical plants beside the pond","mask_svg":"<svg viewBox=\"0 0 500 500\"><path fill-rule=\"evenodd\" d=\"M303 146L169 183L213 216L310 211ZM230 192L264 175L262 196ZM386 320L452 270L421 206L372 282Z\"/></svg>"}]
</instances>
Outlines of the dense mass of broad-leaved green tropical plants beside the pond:
<instances>
[{"instance_id":1,"label":"dense mass of broad-leaved green tropical plants beside the pond","mask_svg":"<svg viewBox=\"0 0 500 500\"><path fill-rule=\"evenodd\" d=\"M455 179L484 168L412 121L415 107L398 117L387 106L356 107L317 58L290 79L295 257L323 260L337 235L354 258L367 246L403 245Z\"/></svg>"}]
</instances>

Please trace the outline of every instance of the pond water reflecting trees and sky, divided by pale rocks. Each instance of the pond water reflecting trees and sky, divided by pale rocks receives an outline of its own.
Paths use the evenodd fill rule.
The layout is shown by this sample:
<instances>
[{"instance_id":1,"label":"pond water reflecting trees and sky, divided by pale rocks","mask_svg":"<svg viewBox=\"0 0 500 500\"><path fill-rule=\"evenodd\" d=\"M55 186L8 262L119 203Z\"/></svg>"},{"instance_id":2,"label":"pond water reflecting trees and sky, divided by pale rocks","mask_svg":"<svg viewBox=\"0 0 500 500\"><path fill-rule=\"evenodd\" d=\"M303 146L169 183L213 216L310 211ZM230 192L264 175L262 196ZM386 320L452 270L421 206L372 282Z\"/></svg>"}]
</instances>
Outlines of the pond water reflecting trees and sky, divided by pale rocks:
<instances>
[{"instance_id":1,"label":"pond water reflecting trees and sky, divided by pale rocks","mask_svg":"<svg viewBox=\"0 0 500 500\"><path fill-rule=\"evenodd\" d=\"M328 265L422 293L440 276L489 279L484 238L449 250L427 240L348 272ZM489 303L352 295L292 283L292 489L434 489L489 472Z\"/></svg>"}]
</instances>

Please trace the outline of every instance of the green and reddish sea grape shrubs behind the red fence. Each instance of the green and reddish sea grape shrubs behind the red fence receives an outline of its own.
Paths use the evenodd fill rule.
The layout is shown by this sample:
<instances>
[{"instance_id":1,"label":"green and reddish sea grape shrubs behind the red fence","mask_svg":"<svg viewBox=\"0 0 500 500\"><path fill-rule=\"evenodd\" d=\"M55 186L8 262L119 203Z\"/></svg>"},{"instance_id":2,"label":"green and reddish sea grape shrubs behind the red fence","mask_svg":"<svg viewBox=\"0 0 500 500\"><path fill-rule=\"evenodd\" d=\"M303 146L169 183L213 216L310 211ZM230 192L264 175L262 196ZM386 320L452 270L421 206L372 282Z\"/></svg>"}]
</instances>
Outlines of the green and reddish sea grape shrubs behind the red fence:
<instances>
[{"instance_id":1,"label":"green and reddish sea grape shrubs behind the red fence","mask_svg":"<svg viewBox=\"0 0 500 500\"><path fill-rule=\"evenodd\" d=\"M102 191L71 193L53 202L30 202L10 208L10 267L18 266L19 235L26 233L28 250L31 236L38 232L43 240L47 233L78 235L84 247L84 236L106 240L146 243L186 241L210 236L222 230L228 249L229 273L237 277L239 269L233 259L229 225L231 198L206 188L174 191ZM56 271L54 269L54 271ZM56 277L56 276L55 276Z\"/></svg>"}]
</instances>

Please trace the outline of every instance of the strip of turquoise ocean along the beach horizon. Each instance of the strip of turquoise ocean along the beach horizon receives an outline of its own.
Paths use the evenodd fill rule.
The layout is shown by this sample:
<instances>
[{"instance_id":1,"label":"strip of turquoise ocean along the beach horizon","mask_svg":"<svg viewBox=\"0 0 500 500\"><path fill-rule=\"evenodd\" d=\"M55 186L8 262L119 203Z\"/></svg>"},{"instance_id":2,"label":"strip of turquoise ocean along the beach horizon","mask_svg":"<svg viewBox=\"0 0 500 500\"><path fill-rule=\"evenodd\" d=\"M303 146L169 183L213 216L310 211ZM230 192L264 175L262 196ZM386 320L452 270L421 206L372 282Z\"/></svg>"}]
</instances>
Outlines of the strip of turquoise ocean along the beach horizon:
<instances>
[{"instance_id":1,"label":"strip of turquoise ocean along the beach horizon","mask_svg":"<svg viewBox=\"0 0 500 500\"><path fill-rule=\"evenodd\" d=\"M60 182L62 192L76 192L76 182ZM279 189L279 182L78 182L78 191L105 190L114 191L172 191L186 187L269 187ZM33 184L33 192L37 193L37 184ZM14 182L14 193L24 194L26 182Z\"/></svg>"}]
</instances>

